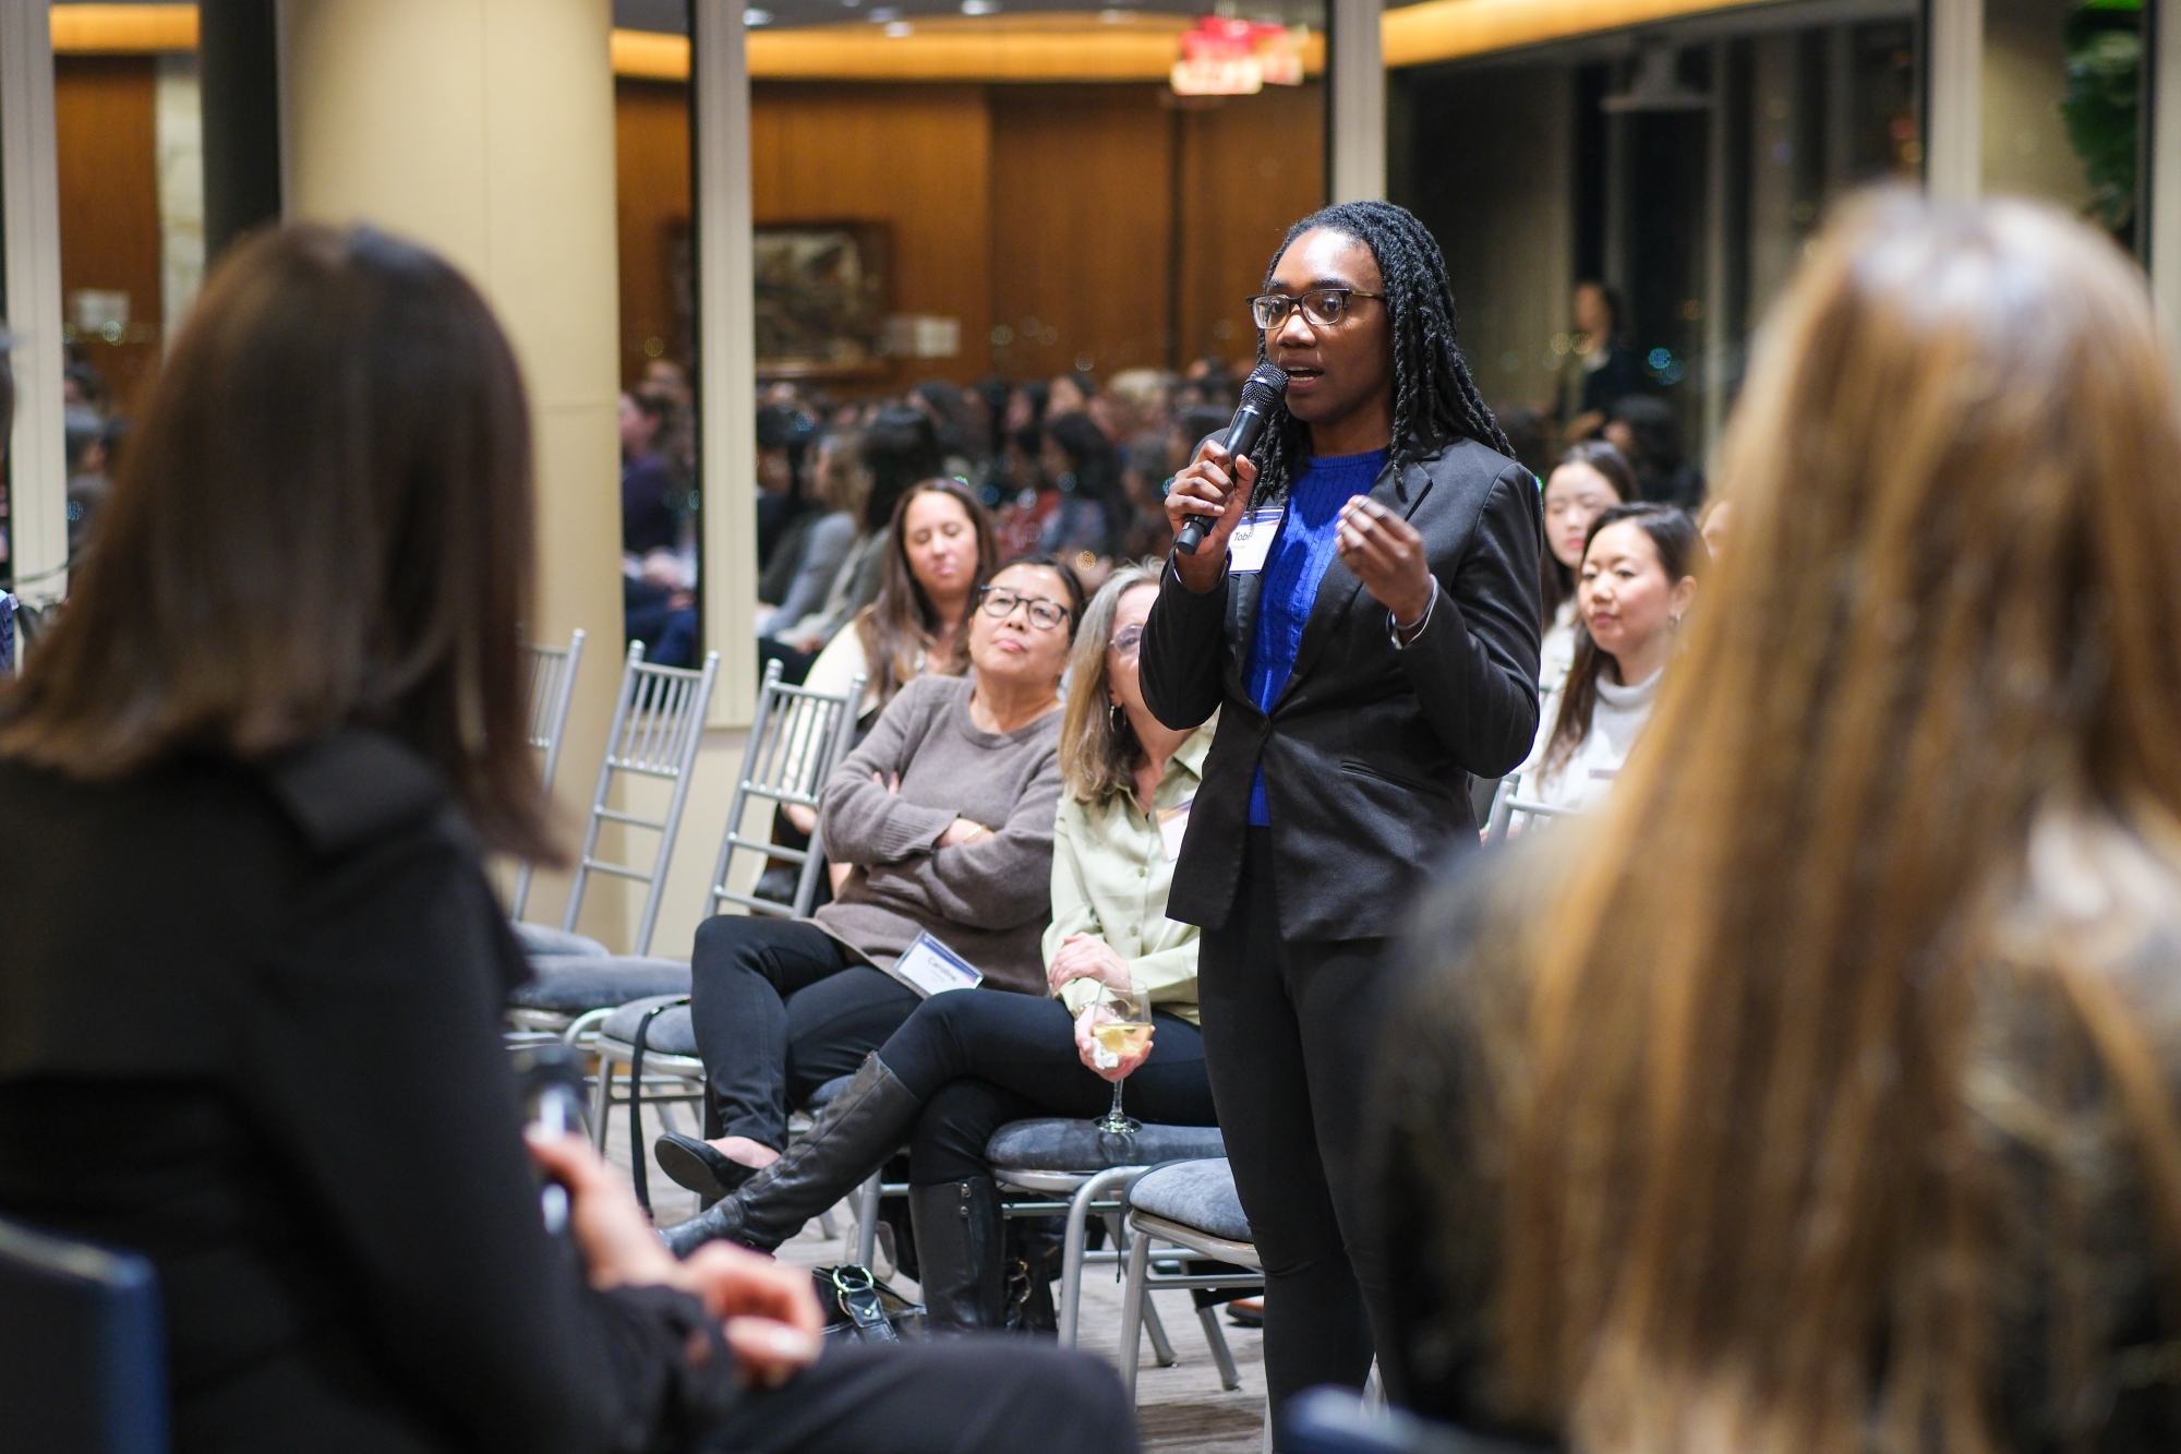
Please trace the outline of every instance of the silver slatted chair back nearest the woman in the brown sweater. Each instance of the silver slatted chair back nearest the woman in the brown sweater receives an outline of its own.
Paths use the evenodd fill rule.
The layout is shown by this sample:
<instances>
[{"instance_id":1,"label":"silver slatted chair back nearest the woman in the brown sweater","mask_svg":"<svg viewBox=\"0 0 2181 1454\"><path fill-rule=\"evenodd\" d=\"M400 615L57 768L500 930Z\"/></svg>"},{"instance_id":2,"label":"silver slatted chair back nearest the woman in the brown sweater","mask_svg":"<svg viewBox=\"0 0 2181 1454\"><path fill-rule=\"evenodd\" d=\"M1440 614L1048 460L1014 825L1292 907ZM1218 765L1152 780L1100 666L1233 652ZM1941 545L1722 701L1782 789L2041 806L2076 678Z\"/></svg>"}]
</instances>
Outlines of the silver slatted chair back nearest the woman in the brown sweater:
<instances>
[{"instance_id":1,"label":"silver slatted chair back nearest the woman in the brown sweater","mask_svg":"<svg viewBox=\"0 0 2181 1454\"><path fill-rule=\"evenodd\" d=\"M750 723L750 747L742 755L735 801L726 810L726 836L720 841L720 858L713 865L711 889L704 895L707 917L720 913L724 904L739 904L752 915L809 917L811 902L818 897L818 869L824 862L818 834L811 834L807 849L792 849L772 843L770 817L757 838L742 832L742 821L752 799L774 806L798 803L816 808L827 779L840 766L842 758L848 755L861 701L864 677L851 681L844 694L829 696L783 683L781 664L766 664L766 686L757 694L757 718ZM728 889L728 873L735 867L737 851L785 858L800 865L796 897L790 904L781 904Z\"/></svg>"}]
</instances>

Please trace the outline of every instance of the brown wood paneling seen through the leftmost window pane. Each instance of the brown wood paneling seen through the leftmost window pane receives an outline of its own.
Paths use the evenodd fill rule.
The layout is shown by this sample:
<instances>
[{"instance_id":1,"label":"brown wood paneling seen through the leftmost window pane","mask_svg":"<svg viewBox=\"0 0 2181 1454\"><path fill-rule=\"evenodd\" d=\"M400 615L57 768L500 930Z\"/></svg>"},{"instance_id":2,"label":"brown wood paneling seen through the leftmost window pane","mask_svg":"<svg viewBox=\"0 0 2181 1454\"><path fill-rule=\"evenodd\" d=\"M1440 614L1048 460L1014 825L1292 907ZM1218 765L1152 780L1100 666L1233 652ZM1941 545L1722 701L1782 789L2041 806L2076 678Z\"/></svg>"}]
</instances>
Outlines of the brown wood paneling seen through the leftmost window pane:
<instances>
[{"instance_id":1,"label":"brown wood paneling seen through the leftmost window pane","mask_svg":"<svg viewBox=\"0 0 2181 1454\"><path fill-rule=\"evenodd\" d=\"M83 356L124 404L159 367L159 144L148 55L63 55L52 68L61 194L61 303L79 288L129 295L122 343ZM72 308L70 308L72 317Z\"/></svg>"}]
</instances>

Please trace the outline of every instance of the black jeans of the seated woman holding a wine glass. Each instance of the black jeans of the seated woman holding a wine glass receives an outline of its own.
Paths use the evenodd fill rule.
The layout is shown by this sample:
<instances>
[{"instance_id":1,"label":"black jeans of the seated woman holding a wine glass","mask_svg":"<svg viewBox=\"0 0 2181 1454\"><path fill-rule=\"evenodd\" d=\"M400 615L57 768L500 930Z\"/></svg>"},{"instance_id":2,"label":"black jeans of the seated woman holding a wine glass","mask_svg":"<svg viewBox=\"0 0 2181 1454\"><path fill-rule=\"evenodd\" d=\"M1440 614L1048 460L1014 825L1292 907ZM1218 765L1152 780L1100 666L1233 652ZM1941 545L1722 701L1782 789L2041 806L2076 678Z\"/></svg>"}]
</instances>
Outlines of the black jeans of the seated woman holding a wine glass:
<instances>
[{"instance_id":1,"label":"black jeans of the seated woman holding a wine glass","mask_svg":"<svg viewBox=\"0 0 2181 1454\"><path fill-rule=\"evenodd\" d=\"M1121 1083L1123 1107L1167 1127L1217 1124L1197 1026L1165 1013L1152 1022L1152 1059ZM984 1146L1010 1120L1112 1107L1112 1085L1082 1063L1075 1017L1060 1000L1005 989L931 996L879 1059L925 1103L909 1133L912 1185L986 1175Z\"/></svg>"}]
</instances>

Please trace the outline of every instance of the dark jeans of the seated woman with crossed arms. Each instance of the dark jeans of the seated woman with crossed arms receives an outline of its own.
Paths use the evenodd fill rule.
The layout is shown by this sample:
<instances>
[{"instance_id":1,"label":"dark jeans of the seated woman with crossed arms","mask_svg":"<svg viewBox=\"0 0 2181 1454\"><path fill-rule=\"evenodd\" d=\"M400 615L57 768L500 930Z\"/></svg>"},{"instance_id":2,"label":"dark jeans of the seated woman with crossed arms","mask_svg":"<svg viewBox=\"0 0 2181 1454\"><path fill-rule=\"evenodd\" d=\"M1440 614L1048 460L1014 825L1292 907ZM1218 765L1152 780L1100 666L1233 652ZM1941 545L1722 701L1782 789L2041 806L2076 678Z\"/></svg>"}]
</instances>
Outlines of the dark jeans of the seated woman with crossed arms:
<instances>
[{"instance_id":1,"label":"dark jeans of the seated woman with crossed arms","mask_svg":"<svg viewBox=\"0 0 2181 1454\"><path fill-rule=\"evenodd\" d=\"M711 1081L707 1135L787 1146L787 1111L851 1076L918 1006L814 923L718 915L696 930L689 1024Z\"/></svg>"}]
</instances>

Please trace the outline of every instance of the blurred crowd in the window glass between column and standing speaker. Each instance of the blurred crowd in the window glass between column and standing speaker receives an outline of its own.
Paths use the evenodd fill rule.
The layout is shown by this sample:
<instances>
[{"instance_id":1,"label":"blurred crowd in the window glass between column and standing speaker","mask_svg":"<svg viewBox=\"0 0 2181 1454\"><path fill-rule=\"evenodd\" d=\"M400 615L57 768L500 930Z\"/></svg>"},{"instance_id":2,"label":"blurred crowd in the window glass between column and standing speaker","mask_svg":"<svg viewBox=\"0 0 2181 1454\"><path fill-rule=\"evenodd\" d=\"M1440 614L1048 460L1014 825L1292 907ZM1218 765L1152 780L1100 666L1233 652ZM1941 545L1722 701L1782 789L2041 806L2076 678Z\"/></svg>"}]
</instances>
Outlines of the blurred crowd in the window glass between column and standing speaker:
<instances>
[{"instance_id":1,"label":"blurred crowd in the window glass between column and standing speaker","mask_svg":"<svg viewBox=\"0 0 2181 1454\"><path fill-rule=\"evenodd\" d=\"M1088 589L1117 561L1162 557L1167 480L1226 428L1241 382L1219 358L1182 373L1128 369L975 386L927 380L901 395L842 400L774 382L757 400L757 635L761 659L803 681L820 653L879 600L888 533L912 487L953 480L990 517L975 576L1029 555L1067 561ZM650 365L622 395L622 550L628 637L646 657L696 653L696 430L683 369ZM942 509L942 506L927 506ZM923 524L923 522L918 522ZM925 531L929 539L931 531ZM933 592L931 581L918 587ZM971 581L938 585L960 622ZM953 598L960 596L960 598ZM914 672L907 672L914 675ZM846 675L842 677L846 681ZM899 679L896 679L899 686ZM877 694L890 696L872 679Z\"/></svg>"}]
</instances>

